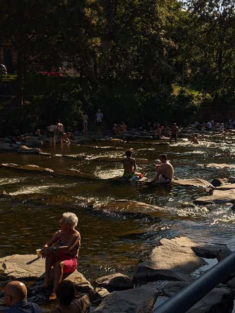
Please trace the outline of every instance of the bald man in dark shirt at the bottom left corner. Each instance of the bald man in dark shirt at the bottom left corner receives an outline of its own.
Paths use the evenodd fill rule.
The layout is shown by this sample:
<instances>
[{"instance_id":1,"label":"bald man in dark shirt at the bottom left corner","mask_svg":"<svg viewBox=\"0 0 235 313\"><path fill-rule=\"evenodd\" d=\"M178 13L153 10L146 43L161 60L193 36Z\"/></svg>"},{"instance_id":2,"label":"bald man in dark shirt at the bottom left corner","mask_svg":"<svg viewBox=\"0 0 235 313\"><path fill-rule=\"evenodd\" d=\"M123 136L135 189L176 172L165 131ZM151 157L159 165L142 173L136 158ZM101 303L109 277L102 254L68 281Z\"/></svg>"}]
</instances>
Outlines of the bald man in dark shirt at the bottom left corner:
<instances>
[{"instance_id":1,"label":"bald man in dark shirt at the bottom left corner","mask_svg":"<svg viewBox=\"0 0 235 313\"><path fill-rule=\"evenodd\" d=\"M27 301L27 288L21 281L11 281L4 288L4 313L42 313L36 303Z\"/></svg>"}]
</instances>

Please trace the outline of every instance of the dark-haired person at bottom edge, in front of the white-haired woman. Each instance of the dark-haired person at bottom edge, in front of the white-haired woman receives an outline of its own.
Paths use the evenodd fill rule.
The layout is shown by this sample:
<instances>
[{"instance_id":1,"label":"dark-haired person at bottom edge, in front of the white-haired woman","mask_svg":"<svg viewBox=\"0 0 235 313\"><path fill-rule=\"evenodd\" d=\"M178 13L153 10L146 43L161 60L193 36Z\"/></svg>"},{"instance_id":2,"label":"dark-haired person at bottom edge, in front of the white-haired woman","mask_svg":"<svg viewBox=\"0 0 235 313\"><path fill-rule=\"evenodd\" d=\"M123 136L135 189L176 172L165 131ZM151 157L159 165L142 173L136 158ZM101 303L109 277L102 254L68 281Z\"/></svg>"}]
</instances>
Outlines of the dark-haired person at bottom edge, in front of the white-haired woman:
<instances>
[{"instance_id":1,"label":"dark-haired person at bottom edge, in front of the white-haired woman","mask_svg":"<svg viewBox=\"0 0 235 313\"><path fill-rule=\"evenodd\" d=\"M59 300L59 307L53 309L51 313L83 313L87 312L89 309L90 302L87 308L82 306L81 300L74 300L76 295L76 290L74 284L69 280L63 280L59 283L56 289L56 296ZM84 296L87 297L87 296ZM86 304L86 303L85 303ZM85 311L85 310L86 311Z\"/></svg>"}]
</instances>

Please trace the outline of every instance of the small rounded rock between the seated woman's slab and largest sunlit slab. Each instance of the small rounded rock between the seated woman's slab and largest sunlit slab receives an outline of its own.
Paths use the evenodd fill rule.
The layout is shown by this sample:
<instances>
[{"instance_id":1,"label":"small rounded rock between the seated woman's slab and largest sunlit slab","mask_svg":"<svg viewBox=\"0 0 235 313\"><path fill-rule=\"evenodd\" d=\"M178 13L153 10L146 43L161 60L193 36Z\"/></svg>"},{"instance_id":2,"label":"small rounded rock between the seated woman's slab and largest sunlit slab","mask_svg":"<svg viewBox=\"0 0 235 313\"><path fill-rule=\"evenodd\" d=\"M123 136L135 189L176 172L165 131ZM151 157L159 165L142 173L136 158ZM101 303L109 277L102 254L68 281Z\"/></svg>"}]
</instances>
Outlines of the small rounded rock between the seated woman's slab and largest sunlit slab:
<instances>
[{"instance_id":1,"label":"small rounded rock between the seated woman's slab and largest sunlit slab","mask_svg":"<svg viewBox=\"0 0 235 313\"><path fill-rule=\"evenodd\" d=\"M109 292L117 291L117 290L126 290L133 288L132 279L121 273L114 273L111 275L103 276L97 278L94 281L95 287L103 287L106 288Z\"/></svg>"}]
</instances>

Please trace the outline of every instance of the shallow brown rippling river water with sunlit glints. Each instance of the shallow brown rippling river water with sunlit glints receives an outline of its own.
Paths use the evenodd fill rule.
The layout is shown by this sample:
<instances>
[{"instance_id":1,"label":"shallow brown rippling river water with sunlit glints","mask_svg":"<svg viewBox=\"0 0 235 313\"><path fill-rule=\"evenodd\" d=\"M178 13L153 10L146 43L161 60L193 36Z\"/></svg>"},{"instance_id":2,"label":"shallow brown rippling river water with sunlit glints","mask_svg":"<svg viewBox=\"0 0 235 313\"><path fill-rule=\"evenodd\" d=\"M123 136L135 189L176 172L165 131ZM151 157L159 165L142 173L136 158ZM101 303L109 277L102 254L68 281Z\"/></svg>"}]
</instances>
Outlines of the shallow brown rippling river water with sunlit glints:
<instances>
[{"instance_id":1,"label":"shallow brown rippling river water with sunlit glints","mask_svg":"<svg viewBox=\"0 0 235 313\"><path fill-rule=\"evenodd\" d=\"M213 137L211 138L211 140ZM234 141L235 137L221 136L222 141ZM1 153L0 163L35 164L53 170L78 169L82 173L96 175L103 180L57 176L50 173L26 172L0 168L1 190L11 195L50 194L85 199L86 202L108 203L129 199L159 206L162 214L151 217L141 214L95 211L74 201L66 205L54 202L19 201L14 197L0 197L0 257L12 254L35 254L59 229L59 219L64 211L72 211L79 218L77 229L82 245L78 270L91 282L115 271L132 274L135 266L158 245L161 238L188 236L197 242L223 243L235 250L235 212L231 205L209 207L182 207L206 195L200 188L176 185L148 187L140 183L105 180L122 174L120 162L104 162L98 157L123 157L125 149L134 148L135 158L146 158L150 163L137 163L137 171L148 178L155 175L153 163L161 153L166 153L175 167L175 177L213 178L235 176L235 169L205 168L208 163L235 164L235 144L214 143L210 139L200 145L180 141L171 146L152 146L138 142L95 142L94 149L83 146L43 147L43 155ZM93 145L89 143L89 146ZM101 149L102 147L122 149ZM84 160L65 158L61 155L86 155ZM68 199L68 198L66 198Z\"/></svg>"}]
</instances>

